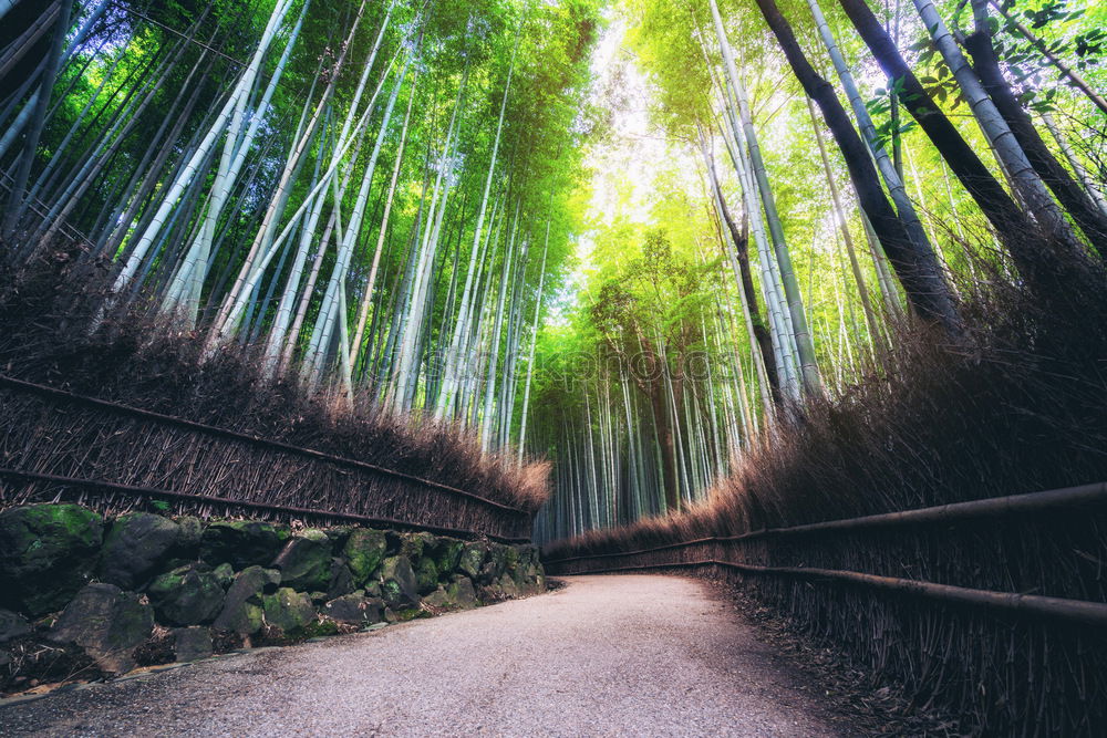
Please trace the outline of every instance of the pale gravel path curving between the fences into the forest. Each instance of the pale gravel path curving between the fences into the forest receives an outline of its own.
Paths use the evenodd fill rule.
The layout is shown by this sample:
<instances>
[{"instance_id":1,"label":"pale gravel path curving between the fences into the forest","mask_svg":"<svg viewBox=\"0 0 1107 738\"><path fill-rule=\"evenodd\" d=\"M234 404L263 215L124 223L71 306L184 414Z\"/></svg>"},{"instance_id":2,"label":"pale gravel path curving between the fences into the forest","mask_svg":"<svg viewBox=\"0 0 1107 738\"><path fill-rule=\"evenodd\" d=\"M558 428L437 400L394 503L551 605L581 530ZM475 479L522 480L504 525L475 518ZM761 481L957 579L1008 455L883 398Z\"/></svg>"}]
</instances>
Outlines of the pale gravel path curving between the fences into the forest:
<instances>
[{"instance_id":1,"label":"pale gravel path curving between the fences into the forest","mask_svg":"<svg viewBox=\"0 0 1107 738\"><path fill-rule=\"evenodd\" d=\"M542 596L203 662L0 709L0 735L835 736L695 580Z\"/></svg>"}]
</instances>

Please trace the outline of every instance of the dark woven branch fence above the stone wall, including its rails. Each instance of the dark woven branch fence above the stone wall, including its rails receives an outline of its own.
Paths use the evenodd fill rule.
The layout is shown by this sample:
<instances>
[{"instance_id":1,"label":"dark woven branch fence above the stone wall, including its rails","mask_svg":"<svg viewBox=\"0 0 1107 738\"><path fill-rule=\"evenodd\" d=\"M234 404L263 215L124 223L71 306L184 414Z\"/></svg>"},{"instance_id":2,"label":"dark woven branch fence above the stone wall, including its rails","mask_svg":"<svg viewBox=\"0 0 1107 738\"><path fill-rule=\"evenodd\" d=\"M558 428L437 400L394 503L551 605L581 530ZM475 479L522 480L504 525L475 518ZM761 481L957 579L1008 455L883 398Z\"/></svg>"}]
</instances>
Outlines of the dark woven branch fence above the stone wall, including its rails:
<instances>
[{"instance_id":1,"label":"dark woven branch fence above the stone wall, including its rails","mask_svg":"<svg viewBox=\"0 0 1107 738\"><path fill-rule=\"evenodd\" d=\"M531 513L323 451L0 375L0 508L68 499L104 511L360 522L504 542Z\"/></svg>"}]
</instances>

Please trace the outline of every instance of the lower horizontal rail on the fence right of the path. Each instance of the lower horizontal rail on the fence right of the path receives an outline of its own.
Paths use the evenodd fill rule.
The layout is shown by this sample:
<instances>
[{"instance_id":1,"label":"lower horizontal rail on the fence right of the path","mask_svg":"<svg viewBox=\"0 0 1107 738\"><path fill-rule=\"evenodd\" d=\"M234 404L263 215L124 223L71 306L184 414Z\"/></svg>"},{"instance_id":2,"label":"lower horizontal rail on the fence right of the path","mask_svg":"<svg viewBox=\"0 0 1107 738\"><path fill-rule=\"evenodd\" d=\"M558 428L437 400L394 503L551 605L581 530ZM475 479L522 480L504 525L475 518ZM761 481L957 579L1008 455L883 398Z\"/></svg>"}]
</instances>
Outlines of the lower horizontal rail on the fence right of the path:
<instances>
[{"instance_id":1,"label":"lower horizontal rail on the fence right of the path","mask_svg":"<svg viewBox=\"0 0 1107 738\"><path fill-rule=\"evenodd\" d=\"M839 571L835 569L806 569L800 567L757 567L733 561L704 559L700 561L643 564L640 567L615 567L598 569L577 574L603 574L618 571L646 571L651 569L677 569L686 567L725 567L745 573L761 575L792 576L809 580L836 580L858 584L870 589L902 592L929 600L962 604L975 607L986 607L1018 615L1034 615L1061 620L1068 623L1080 623L1097 627L1107 627L1107 603L1085 602L1083 600L1066 600L1047 597L1038 594L1017 594L1012 592L993 592L991 590L971 590L951 584L937 584L893 576L878 576L856 571Z\"/></svg>"}]
</instances>

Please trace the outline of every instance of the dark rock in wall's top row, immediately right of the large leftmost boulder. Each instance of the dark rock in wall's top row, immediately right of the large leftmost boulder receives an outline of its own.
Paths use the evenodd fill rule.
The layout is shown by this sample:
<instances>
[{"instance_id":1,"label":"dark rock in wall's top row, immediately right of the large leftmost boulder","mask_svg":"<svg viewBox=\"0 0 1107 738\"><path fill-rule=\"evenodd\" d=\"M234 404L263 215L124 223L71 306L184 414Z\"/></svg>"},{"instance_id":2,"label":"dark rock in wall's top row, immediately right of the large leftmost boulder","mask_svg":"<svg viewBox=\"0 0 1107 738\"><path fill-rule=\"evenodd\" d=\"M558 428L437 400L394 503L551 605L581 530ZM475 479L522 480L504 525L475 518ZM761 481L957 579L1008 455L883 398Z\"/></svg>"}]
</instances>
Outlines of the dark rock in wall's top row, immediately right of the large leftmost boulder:
<instances>
[{"instance_id":1,"label":"dark rock in wall's top row, immediately right of the large leftmost boulder","mask_svg":"<svg viewBox=\"0 0 1107 738\"><path fill-rule=\"evenodd\" d=\"M131 512L112 523L100 559L100 579L133 590L146 582L177 544L180 527L162 516Z\"/></svg>"}]
</instances>

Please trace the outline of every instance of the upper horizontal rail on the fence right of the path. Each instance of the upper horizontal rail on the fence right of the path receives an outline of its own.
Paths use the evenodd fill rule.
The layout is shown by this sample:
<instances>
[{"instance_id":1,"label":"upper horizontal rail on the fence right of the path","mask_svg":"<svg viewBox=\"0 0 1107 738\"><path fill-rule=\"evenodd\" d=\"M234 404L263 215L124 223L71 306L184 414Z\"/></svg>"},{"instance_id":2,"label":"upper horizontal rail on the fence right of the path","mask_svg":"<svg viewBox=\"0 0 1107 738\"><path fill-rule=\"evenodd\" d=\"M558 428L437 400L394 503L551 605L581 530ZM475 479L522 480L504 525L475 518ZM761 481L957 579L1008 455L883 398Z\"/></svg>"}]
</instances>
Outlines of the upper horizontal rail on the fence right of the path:
<instances>
[{"instance_id":1,"label":"upper horizontal rail on the fence right of the path","mask_svg":"<svg viewBox=\"0 0 1107 738\"><path fill-rule=\"evenodd\" d=\"M1024 495L1010 495L1006 497L990 497L983 500L953 502L950 505L939 505L930 508L919 508L917 510L903 510L901 512L884 512L880 514L865 516L862 518L828 520L826 522L793 526L789 528L766 528L764 530L742 533L741 536L713 536L707 538L697 538L691 541L665 543L664 545L658 545L649 549L635 549L633 551L581 554L567 557L565 559L551 559L547 561L546 564L554 565L569 561L581 561L583 559L614 559L619 557L631 557L639 553L651 553L653 551L665 551L668 549L681 549L702 543L726 543L748 541L758 538L809 536L813 533L824 532L897 528L900 526L924 526L954 521L962 522L965 520L981 518L1000 518L1004 516L1044 512L1057 508L1073 508L1074 510L1077 510L1089 505L1107 505L1107 482L1082 485L1079 487L1066 487L1064 489L1051 489L1044 492L1026 492Z\"/></svg>"}]
</instances>

